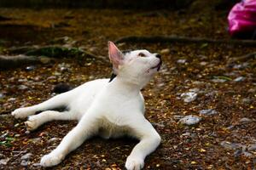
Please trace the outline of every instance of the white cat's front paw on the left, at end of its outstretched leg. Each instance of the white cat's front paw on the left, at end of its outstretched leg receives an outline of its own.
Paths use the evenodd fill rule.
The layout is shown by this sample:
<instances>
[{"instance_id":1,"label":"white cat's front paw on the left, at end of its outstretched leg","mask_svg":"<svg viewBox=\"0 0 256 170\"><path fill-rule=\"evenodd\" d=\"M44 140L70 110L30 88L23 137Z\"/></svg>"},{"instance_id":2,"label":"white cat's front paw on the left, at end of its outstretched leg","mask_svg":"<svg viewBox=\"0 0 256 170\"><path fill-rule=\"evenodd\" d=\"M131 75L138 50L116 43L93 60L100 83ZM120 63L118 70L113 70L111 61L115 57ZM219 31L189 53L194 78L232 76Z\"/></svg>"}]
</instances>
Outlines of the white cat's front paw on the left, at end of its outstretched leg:
<instances>
[{"instance_id":1,"label":"white cat's front paw on the left, at end of its outstretched leg","mask_svg":"<svg viewBox=\"0 0 256 170\"><path fill-rule=\"evenodd\" d=\"M56 155L56 154L50 153L42 157L40 161L40 165L42 167L52 167L61 163L63 159L64 159L63 155Z\"/></svg>"}]
</instances>

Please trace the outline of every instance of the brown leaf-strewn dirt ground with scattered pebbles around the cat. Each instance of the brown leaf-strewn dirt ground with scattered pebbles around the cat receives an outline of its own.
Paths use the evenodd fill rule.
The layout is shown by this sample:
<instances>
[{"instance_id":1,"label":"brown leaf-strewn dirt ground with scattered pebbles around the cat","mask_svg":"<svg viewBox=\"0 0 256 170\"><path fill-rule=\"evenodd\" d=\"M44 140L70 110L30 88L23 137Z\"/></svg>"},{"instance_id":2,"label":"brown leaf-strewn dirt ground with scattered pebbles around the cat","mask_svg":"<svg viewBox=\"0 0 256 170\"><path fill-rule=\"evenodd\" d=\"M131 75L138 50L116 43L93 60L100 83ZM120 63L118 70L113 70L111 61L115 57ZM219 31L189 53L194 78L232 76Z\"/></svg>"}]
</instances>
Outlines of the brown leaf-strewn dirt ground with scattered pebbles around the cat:
<instances>
[{"instance_id":1,"label":"brown leaf-strewn dirt ground with scattered pebbles around the cat","mask_svg":"<svg viewBox=\"0 0 256 170\"><path fill-rule=\"evenodd\" d=\"M58 43L106 56L108 40L130 35L178 35L229 39L226 12L0 8L0 54L9 48ZM60 38L65 37L65 38ZM60 41L61 39L61 41ZM64 39L64 40L63 40ZM256 47L208 43L119 43L121 49L146 48L160 53L160 73L143 89L146 116L160 133L160 147L144 169L256 169L256 60L230 62ZM28 66L28 67L26 67ZM56 59L0 74L0 168L44 169L38 162L55 149L77 122L49 122L28 133L24 120L10 112L35 105L53 94L60 82L73 87L109 77L109 63L97 59ZM195 100L184 102L192 92ZM202 110L212 109L212 115ZM199 116L193 126L183 116ZM137 141L93 138L50 169L125 169ZM27 158L21 158L31 153Z\"/></svg>"}]
</instances>

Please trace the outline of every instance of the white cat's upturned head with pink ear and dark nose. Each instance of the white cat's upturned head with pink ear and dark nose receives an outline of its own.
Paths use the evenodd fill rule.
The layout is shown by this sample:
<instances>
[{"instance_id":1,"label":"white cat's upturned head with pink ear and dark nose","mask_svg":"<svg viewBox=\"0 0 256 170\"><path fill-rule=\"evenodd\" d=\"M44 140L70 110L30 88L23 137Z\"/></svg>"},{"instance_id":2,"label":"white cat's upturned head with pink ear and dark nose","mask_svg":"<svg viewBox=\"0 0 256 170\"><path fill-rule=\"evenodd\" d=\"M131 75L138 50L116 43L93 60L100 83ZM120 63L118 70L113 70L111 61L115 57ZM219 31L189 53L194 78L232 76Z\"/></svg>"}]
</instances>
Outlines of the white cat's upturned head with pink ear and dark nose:
<instances>
[{"instance_id":1,"label":"white cat's upturned head with pink ear and dark nose","mask_svg":"<svg viewBox=\"0 0 256 170\"><path fill-rule=\"evenodd\" d=\"M151 54L148 50L134 50L122 53L113 42L108 42L109 59L113 63L113 72L127 82L143 87L162 64L160 54Z\"/></svg>"}]
</instances>

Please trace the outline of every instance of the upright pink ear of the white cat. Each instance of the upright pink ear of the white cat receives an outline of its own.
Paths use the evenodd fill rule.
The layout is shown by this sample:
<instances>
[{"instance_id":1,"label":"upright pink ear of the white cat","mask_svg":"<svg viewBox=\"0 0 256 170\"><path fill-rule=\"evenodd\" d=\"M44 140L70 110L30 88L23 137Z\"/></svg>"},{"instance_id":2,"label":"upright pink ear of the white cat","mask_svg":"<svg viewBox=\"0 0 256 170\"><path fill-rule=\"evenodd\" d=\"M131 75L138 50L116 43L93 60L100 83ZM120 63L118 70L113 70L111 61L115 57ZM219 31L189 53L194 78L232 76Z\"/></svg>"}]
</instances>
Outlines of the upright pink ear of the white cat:
<instances>
[{"instance_id":1,"label":"upright pink ear of the white cat","mask_svg":"<svg viewBox=\"0 0 256 170\"><path fill-rule=\"evenodd\" d=\"M119 65L124 63L124 54L110 41L108 42L108 57L113 65L113 72L117 74Z\"/></svg>"}]
</instances>

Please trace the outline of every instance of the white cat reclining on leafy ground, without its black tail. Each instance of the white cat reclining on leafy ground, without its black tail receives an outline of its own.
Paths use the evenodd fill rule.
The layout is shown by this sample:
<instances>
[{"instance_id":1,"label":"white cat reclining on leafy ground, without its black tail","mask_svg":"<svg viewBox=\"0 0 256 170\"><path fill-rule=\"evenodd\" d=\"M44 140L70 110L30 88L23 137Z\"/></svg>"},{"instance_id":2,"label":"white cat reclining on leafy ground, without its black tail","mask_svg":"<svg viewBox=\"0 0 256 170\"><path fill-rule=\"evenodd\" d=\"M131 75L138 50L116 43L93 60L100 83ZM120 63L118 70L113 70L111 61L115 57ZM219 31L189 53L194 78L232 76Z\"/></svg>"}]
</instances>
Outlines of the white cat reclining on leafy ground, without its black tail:
<instances>
[{"instance_id":1,"label":"white cat reclining on leafy ground, without its black tail","mask_svg":"<svg viewBox=\"0 0 256 170\"><path fill-rule=\"evenodd\" d=\"M39 105L20 108L12 112L15 118L28 117L26 127L34 130L44 122L53 120L79 120L61 144L41 159L41 166L59 164L85 139L100 135L105 139L128 135L140 140L127 157L128 170L141 169L144 159L160 144L160 135L144 117L144 99L140 90L160 69L160 56L147 50L135 50L122 54L108 42L108 55L117 75L112 82L98 79L86 82L64 94L44 101ZM58 106L67 106L69 111L50 111ZM37 111L43 111L34 115Z\"/></svg>"}]
</instances>

